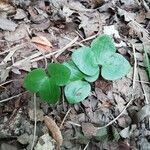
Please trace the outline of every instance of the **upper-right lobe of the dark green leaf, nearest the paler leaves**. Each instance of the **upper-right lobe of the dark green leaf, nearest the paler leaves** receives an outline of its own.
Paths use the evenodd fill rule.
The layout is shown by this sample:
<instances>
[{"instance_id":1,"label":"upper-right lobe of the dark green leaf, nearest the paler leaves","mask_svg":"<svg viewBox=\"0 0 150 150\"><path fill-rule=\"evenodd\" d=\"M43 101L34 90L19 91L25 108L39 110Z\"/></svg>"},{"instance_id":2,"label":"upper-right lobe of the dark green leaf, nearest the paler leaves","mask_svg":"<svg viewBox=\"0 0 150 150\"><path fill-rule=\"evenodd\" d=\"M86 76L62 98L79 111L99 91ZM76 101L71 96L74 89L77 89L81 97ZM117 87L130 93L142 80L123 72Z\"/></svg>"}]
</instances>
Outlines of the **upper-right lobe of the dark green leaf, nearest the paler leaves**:
<instances>
[{"instance_id":1,"label":"upper-right lobe of the dark green leaf, nearest the paler leaves","mask_svg":"<svg viewBox=\"0 0 150 150\"><path fill-rule=\"evenodd\" d=\"M63 64L53 63L48 65L48 74L59 85L65 85L70 78L70 69Z\"/></svg>"}]
</instances>

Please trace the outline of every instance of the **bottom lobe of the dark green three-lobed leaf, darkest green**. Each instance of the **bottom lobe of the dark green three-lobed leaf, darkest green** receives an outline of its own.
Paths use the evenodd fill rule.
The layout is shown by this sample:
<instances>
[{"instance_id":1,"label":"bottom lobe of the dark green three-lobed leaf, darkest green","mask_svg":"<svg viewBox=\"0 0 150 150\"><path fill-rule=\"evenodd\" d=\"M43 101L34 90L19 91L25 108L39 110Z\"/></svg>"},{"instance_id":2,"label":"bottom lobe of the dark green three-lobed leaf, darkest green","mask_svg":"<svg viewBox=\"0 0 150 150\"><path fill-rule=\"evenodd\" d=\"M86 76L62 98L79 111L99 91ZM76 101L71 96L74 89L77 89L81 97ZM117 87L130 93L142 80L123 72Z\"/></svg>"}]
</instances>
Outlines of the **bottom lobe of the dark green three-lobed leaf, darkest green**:
<instances>
[{"instance_id":1,"label":"bottom lobe of the dark green three-lobed leaf, darkest green","mask_svg":"<svg viewBox=\"0 0 150 150\"><path fill-rule=\"evenodd\" d=\"M61 95L60 87L50 78L39 90L39 96L49 104L55 104Z\"/></svg>"}]
</instances>

